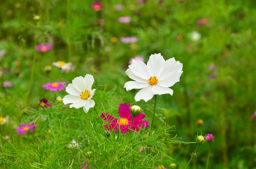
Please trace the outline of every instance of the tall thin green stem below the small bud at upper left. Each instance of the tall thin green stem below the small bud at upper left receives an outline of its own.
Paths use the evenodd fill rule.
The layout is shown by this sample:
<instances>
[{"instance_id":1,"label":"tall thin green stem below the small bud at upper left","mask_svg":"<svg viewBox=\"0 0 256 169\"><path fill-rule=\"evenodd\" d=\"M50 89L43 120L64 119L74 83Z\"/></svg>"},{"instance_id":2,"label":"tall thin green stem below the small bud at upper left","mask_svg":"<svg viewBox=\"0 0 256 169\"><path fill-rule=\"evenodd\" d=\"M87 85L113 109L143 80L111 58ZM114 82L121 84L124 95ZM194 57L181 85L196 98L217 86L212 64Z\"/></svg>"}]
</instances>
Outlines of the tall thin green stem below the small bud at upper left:
<instances>
[{"instance_id":1,"label":"tall thin green stem below the small bud at upper left","mask_svg":"<svg viewBox=\"0 0 256 169\"><path fill-rule=\"evenodd\" d=\"M30 74L30 81L28 85L28 91L26 93L26 99L25 103L28 103L30 94L31 94L31 88L32 88L32 81L34 76L34 70L35 70L35 62L36 62L36 43L37 43L37 31L38 31L38 21L36 21L36 30L35 30L35 38L34 38L34 53L33 53L33 61L32 61L32 70Z\"/></svg>"}]
</instances>

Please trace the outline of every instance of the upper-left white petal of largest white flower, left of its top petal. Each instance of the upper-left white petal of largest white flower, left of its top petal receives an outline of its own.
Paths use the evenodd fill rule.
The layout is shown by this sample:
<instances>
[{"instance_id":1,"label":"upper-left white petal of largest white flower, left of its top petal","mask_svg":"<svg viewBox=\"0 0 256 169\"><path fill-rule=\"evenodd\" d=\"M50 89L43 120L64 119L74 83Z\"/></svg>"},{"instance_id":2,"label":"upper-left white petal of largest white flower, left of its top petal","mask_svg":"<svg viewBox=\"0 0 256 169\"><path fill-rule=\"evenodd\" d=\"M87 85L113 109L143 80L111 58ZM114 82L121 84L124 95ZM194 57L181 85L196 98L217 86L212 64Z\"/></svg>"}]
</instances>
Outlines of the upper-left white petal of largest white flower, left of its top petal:
<instances>
[{"instance_id":1,"label":"upper-left white petal of largest white flower, left of its top petal","mask_svg":"<svg viewBox=\"0 0 256 169\"><path fill-rule=\"evenodd\" d=\"M149 72L147 65L143 61L133 60L132 64L128 66L133 74L145 80L149 79Z\"/></svg>"}]
</instances>

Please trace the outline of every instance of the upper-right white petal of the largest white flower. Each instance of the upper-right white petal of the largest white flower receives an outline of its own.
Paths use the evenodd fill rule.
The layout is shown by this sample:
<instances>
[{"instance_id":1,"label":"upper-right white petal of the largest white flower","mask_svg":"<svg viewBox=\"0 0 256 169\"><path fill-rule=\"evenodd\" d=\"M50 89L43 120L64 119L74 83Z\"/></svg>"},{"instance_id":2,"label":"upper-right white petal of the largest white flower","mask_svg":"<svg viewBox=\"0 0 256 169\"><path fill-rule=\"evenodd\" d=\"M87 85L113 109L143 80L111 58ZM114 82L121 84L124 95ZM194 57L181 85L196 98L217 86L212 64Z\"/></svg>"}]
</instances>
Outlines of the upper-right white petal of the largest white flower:
<instances>
[{"instance_id":1,"label":"upper-right white petal of the largest white flower","mask_svg":"<svg viewBox=\"0 0 256 169\"><path fill-rule=\"evenodd\" d=\"M174 58L168 59L165 61L164 65L160 69L157 78L158 80L164 80L172 75L181 75L182 74L183 64L179 61L175 61ZM178 73L177 73L178 72Z\"/></svg>"}]
</instances>

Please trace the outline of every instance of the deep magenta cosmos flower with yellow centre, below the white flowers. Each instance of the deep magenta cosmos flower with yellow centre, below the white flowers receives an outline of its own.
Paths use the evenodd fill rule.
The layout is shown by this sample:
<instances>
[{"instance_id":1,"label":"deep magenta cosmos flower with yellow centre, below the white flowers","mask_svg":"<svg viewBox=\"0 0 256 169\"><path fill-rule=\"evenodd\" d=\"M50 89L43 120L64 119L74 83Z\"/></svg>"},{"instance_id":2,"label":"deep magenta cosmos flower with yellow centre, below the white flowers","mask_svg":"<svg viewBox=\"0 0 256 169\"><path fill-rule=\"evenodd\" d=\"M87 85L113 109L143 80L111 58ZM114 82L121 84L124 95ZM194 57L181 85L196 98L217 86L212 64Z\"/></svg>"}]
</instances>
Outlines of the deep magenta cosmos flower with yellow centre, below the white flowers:
<instances>
[{"instance_id":1,"label":"deep magenta cosmos flower with yellow centre, below the white flowers","mask_svg":"<svg viewBox=\"0 0 256 169\"><path fill-rule=\"evenodd\" d=\"M130 112L130 104L120 104L119 107L119 116L120 119L118 120L112 115L109 115L108 113L102 113L100 116L105 121L109 122L108 124L104 125L106 130L116 130L118 133L119 129L121 133L126 133L127 131L130 132L131 128L131 122L132 122L132 115ZM133 120L132 124L132 130L139 131L140 127L146 128L148 127L148 121L144 121L145 115L143 113L140 113L139 115L136 115Z\"/></svg>"}]
</instances>

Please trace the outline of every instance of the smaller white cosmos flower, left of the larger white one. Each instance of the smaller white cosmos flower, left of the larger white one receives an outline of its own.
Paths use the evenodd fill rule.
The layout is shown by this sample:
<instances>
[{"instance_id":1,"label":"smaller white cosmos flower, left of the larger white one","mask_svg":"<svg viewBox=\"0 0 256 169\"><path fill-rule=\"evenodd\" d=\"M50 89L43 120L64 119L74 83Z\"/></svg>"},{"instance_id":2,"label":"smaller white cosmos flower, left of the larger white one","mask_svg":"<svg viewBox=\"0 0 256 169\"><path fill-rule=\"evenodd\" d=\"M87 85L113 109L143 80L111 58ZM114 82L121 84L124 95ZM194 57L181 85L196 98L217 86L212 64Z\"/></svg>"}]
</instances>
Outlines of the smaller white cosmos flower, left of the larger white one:
<instances>
[{"instance_id":1,"label":"smaller white cosmos flower, left of the larger white one","mask_svg":"<svg viewBox=\"0 0 256 169\"><path fill-rule=\"evenodd\" d=\"M87 74L85 77L76 77L72 80L72 84L68 84L66 92L69 94L64 96L64 104L72 103L70 108L84 108L87 113L90 108L93 108L95 102L91 100L96 89L92 90L94 78Z\"/></svg>"}]
</instances>

